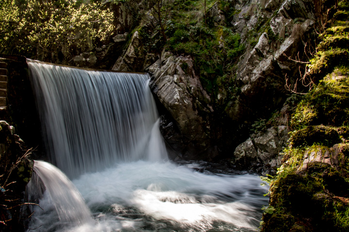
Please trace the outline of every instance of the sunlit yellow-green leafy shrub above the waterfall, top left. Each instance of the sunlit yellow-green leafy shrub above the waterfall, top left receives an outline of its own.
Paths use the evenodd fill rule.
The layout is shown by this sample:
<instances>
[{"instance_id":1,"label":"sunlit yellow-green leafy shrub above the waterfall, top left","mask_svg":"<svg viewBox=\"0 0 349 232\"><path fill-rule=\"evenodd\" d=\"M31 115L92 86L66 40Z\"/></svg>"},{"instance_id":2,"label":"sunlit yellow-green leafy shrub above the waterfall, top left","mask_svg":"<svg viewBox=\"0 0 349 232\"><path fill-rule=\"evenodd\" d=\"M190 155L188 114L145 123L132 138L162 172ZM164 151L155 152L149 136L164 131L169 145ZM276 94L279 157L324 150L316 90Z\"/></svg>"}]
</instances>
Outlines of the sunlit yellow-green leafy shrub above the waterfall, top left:
<instances>
[{"instance_id":1,"label":"sunlit yellow-green leafy shrub above the waterfall, top left","mask_svg":"<svg viewBox=\"0 0 349 232\"><path fill-rule=\"evenodd\" d=\"M97 0L0 0L0 6L0 53L70 60L114 32L113 14Z\"/></svg>"}]
</instances>

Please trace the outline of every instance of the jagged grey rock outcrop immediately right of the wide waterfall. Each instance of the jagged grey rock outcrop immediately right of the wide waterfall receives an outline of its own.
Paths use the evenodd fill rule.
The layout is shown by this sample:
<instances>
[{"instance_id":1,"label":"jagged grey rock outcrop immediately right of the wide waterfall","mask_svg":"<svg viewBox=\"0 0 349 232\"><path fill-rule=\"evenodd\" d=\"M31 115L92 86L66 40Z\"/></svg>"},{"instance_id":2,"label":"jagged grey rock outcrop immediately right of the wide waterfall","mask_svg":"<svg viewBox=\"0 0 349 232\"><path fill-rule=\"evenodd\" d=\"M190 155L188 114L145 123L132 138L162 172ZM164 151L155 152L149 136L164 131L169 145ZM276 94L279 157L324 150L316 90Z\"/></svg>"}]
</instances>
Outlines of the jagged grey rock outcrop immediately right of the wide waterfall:
<instances>
[{"instance_id":1,"label":"jagged grey rock outcrop immediately right of the wide waterfall","mask_svg":"<svg viewBox=\"0 0 349 232\"><path fill-rule=\"evenodd\" d=\"M174 119L175 125L170 121L162 131L173 130L181 134L184 146L179 152L187 159L198 158L208 150L212 152L207 135L209 124L203 113L212 113L213 109L207 103L210 98L195 75L191 58L163 52L147 71L152 75L150 87L153 93ZM176 143L170 137L166 138L169 144Z\"/></svg>"}]
</instances>

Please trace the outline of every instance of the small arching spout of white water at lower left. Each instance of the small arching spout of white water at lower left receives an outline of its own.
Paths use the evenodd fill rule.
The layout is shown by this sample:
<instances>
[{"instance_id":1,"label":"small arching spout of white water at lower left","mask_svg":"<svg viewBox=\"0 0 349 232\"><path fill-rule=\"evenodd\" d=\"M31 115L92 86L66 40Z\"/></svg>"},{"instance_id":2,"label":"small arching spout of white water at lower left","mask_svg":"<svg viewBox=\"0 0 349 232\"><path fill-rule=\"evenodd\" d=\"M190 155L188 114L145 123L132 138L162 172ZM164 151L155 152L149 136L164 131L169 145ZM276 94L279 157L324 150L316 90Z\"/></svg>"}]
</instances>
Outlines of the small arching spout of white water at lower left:
<instances>
[{"instance_id":1,"label":"small arching spout of white water at lower left","mask_svg":"<svg viewBox=\"0 0 349 232\"><path fill-rule=\"evenodd\" d=\"M32 180L27 186L30 200L40 199L40 207L29 227L35 231L57 231L64 227L94 224L78 189L58 168L44 161L34 161ZM45 219L48 218L48 219Z\"/></svg>"}]
</instances>

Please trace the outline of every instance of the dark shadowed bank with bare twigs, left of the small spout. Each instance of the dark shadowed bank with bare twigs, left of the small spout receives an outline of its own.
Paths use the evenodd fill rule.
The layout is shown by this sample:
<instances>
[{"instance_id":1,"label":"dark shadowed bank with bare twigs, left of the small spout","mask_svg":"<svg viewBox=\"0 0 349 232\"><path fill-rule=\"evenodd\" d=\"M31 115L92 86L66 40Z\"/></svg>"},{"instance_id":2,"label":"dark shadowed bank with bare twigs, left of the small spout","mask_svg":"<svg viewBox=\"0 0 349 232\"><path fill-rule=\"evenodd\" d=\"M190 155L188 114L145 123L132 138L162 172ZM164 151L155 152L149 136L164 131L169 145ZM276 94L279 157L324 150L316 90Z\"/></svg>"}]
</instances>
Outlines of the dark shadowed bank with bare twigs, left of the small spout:
<instances>
[{"instance_id":1,"label":"dark shadowed bank with bare twigs, left of the small spout","mask_svg":"<svg viewBox=\"0 0 349 232\"><path fill-rule=\"evenodd\" d=\"M30 217L26 212L24 191L32 176L32 161L27 150L10 126L0 122L0 231L23 231Z\"/></svg>"}]
</instances>

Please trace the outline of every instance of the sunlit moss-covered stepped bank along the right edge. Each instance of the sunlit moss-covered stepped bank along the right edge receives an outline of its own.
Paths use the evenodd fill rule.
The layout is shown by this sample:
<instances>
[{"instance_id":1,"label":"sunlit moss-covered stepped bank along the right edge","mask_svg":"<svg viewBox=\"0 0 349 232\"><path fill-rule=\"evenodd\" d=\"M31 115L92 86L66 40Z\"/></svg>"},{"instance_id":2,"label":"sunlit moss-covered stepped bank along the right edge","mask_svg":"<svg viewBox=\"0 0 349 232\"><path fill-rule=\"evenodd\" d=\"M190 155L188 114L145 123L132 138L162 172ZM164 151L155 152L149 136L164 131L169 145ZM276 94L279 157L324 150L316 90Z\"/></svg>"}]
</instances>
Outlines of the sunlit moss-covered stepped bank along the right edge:
<instances>
[{"instance_id":1,"label":"sunlit moss-covered stepped bank along the right edge","mask_svg":"<svg viewBox=\"0 0 349 232\"><path fill-rule=\"evenodd\" d=\"M270 181L270 207L261 231L349 230L349 63L345 1L308 63L313 89L290 121L284 163ZM344 20L344 21L343 21ZM340 26L339 26L340 25Z\"/></svg>"}]
</instances>

